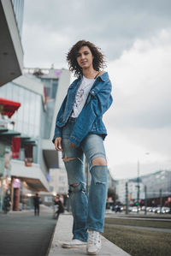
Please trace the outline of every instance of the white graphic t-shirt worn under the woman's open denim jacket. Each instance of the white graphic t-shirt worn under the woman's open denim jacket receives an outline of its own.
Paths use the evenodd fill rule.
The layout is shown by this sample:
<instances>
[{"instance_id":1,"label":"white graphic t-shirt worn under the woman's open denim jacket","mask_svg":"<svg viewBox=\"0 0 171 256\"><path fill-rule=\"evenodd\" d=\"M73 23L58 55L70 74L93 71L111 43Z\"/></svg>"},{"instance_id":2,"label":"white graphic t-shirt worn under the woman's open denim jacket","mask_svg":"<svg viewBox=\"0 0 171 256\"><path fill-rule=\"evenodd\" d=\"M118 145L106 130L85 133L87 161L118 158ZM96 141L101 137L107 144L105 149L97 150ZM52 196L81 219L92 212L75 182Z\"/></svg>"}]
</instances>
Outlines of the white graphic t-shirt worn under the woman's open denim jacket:
<instances>
[{"instance_id":1,"label":"white graphic t-shirt worn under the woman's open denim jacket","mask_svg":"<svg viewBox=\"0 0 171 256\"><path fill-rule=\"evenodd\" d=\"M93 85L94 81L95 79L85 78L85 76L83 75L83 80L75 96L73 113L71 115L72 117L79 116L80 111L84 107L86 98L88 97L88 93L90 92L91 86Z\"/></svg>"}]
</instances>

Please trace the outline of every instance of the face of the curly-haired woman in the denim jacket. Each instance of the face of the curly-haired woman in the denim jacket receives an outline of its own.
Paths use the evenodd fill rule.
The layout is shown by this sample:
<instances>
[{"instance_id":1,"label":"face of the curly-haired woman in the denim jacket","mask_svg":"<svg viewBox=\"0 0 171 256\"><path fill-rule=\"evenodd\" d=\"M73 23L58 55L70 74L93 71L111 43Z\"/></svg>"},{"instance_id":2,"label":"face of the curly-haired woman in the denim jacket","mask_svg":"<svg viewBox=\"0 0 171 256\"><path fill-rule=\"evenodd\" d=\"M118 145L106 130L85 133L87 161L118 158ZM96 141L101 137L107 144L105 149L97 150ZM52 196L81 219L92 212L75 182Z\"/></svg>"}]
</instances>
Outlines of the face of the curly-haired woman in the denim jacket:
<instances>
[{"instance_id":1,"label":"face of the curly-haired woman in the denim jacket","mask_svg":"<svg viewBox=\"0 0 171 256\"><path fill-rule=\"evenodd\" d=\"M88 46L82 46L76 55L77 63L80 68L92 67L93 56Z\"/></svg>"}]
</instances>

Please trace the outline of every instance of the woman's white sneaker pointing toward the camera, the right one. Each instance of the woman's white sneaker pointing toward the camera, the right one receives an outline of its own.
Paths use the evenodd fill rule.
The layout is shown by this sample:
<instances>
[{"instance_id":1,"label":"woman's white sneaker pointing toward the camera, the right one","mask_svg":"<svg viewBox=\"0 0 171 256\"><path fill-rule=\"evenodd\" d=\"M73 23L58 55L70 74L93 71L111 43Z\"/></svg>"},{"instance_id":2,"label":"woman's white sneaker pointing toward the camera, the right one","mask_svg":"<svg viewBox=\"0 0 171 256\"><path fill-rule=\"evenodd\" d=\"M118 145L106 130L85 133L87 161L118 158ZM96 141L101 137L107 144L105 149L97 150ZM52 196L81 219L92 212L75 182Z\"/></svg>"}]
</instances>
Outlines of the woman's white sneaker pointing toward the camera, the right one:
<instances>
[{"instance_id":1,"label":"woman's white sneaker pointing toward the camera, the right one","mask_svg":"<svg viewBox=\"0 0 171 256\"><path fill-rule=\"evenodd\" d=\"M86 246L86 253L89 255L96 255L99 253L102 242L101 242L101 236L100 233L97 231L91 231L89 230L89 236L88 236L88 242Z\"/></svg>"}]
</instances>

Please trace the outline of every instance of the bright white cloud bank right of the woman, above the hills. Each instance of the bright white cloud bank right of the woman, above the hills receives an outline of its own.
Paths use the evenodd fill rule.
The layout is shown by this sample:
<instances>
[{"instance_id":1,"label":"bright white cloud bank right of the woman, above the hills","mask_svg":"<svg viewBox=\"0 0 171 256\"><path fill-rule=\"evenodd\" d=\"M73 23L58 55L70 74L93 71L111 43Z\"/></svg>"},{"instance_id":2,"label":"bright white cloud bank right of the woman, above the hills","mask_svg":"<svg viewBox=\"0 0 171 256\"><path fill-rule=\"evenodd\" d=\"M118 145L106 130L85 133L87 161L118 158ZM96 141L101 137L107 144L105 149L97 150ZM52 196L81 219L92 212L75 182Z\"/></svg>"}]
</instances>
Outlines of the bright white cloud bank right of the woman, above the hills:
<instances>
[{"instance_id":1,"label":"bright white cloud bank right of the woman, above the hills","mask_svg":"<svg viewBox=\"0 0 171 256\"><path fill-rule=\"evenodd\" d=\"M151 170L152 163L153 171L157 166L171 169L170 31L137 39L129 51L109 63L114 104L104 121L109 128L109 166L116 177L125 173L126 166L124 176L133 176L138 158L143 158L142 173ZM145 152L150 152L150 169L144 164Z\"/></svg>"}]
</instances>

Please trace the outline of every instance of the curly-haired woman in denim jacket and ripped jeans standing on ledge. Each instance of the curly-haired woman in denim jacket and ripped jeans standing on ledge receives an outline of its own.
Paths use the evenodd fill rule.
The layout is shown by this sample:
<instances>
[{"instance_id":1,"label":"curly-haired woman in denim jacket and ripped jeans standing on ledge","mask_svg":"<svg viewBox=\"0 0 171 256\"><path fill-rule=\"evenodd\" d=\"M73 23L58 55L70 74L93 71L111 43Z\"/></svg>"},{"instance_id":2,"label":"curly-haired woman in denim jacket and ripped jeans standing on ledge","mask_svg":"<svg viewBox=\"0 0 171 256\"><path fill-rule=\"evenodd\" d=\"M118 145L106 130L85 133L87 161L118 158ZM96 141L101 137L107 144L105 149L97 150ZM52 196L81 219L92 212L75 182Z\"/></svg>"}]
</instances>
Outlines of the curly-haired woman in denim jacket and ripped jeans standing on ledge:
<instances>
[{"instance_id":1,"label":"curly-haired woman in denim jacket and ripped jeans standing on ledge","mask_svg":"<svg viewBox=\"0 0 171 256\"><path fill-rule=\"evenodd\" d=\"M87 254L101 248L107 196L108 168L103 140L107 135L103 114L112 103L109 74L103 71L104 56L96 45L80 40L68 51L69 70L77 79L56 116L53 138L68 173L69 199L74 217L73 240L62 247L82 247ZM91 172L87 198L83 154Z\"/></svg>"}]
</instances>

